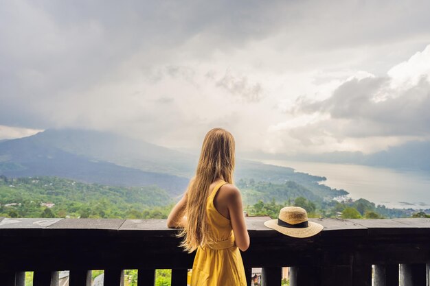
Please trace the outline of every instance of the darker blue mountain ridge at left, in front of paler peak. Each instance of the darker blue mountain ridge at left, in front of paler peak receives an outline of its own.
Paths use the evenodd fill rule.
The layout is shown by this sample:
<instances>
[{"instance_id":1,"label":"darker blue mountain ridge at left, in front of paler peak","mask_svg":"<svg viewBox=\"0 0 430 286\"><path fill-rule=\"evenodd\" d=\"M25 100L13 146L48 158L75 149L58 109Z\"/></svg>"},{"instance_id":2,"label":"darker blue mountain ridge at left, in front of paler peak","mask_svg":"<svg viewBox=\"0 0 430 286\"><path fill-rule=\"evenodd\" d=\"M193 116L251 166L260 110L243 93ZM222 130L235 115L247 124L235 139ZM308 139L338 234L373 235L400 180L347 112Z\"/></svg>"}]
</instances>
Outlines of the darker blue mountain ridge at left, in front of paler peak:
<instances>
[{"instance_id":1,"label":"darker blue mountain ridge at left, in front of paler peak","mask_svg":"<svg viewBox=\"0 0 430 286\"><path fill-rule=\"evenodd\" d=\"M66 152L36 134L0 143L0 174L7 177L58 176L120 186L156 184L172 195L182 193L188 178L123 167L82 154Z\"/></svg>"}]
</instances>

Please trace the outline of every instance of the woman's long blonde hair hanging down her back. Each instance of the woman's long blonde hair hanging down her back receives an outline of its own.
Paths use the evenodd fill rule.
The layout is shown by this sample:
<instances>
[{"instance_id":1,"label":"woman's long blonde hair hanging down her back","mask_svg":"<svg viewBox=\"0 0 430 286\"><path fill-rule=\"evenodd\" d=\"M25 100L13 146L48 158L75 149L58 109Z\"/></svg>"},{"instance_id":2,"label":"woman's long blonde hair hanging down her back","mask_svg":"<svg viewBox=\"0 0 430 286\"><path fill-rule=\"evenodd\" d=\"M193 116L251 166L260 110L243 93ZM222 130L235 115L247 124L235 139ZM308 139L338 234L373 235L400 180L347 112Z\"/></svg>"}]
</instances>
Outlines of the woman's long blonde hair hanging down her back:
<instances>
[{"instance_id":1,"label":"woman's long blonde hair hanging down her back","mask_svg":"<svg viewBox=\"0 0 430 286\"><path fill-rule=\"evenodd\" d=\"M196 176L188 185L188 199L184 211L187 220L179 233L179 237L184 237L181 243L184 251L193 252L212 239L206 215L207 197L211 191L209 188L217 178L233 184L234 163L234 138L230 132L222 128L207 132L201 147Z\"/></svg>"}]
</instances>

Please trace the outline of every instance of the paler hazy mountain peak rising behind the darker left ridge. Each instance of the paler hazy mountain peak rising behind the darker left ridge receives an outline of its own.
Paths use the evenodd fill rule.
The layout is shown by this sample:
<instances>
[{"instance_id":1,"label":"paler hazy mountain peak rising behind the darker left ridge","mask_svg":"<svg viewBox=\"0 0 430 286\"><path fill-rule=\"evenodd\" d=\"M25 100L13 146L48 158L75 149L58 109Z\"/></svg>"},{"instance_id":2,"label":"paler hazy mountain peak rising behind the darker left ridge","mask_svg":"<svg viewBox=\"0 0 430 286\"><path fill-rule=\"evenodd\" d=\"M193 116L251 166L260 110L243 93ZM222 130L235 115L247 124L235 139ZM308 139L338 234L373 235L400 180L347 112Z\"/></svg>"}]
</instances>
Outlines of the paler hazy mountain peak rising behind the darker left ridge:
<instances>
[{"instance_id":1,"label":"paler hazy mountain peak rising behind the darker left ridge","mask_svg":"<svg viewBox=\"0 0 430 286\"><path fill-rule=\"evenodd\" d=\"M45 130L27 138L72 154L177 176L192 176L197 159L145 141L94 130Z\"/></svg>"}]
</instances>

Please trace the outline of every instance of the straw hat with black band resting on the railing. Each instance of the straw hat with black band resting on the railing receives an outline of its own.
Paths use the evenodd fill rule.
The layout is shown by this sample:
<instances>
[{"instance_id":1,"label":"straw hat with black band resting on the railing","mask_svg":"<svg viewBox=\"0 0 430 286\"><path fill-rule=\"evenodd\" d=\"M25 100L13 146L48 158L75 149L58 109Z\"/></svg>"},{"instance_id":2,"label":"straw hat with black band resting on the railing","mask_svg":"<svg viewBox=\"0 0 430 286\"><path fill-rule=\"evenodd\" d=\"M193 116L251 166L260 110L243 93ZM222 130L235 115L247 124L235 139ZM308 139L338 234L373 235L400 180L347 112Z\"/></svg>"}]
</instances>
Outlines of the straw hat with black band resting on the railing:
<instances>
[{"instance_id":1,"label":"straw hat with black band resting on the railing","mask_svg":"<svg viewBox=\"0 0 430 286\"><path fill-rule=\"evenodd\" d=\"M288 237L312 237L319 233L324 226L315 222L308 222L308 214L304 208L286 206L281 208L278 219L264 222L264 226L278 230Z\"/></svg>"}]
</instances>

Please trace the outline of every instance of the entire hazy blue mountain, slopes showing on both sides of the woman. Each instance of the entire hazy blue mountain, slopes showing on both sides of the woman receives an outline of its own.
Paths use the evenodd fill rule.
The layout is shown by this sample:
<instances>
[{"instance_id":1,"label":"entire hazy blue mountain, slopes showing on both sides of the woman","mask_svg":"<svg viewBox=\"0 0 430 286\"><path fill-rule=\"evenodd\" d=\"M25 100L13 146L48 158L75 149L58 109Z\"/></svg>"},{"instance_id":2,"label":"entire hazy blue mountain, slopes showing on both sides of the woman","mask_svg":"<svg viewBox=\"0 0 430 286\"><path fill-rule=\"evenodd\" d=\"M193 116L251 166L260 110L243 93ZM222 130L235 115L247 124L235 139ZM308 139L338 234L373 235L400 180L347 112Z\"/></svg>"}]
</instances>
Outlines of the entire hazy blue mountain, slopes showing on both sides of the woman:
<instances>
[{"instance_id":1,"label":"entire hazy blue mountain, slopes showing on both sides of the woman","mask_svg":"<svg viewBox=\"0 0 430 286\"><path fill-rule=\"evenodd\" d=\"M46 130L0 142L0 175L57 176L118 186L156 184L173 196L183 193L197 159L196 155L90 130ZM318 184L326 178L240 158L235 178L274 184L294 181L321 198L346 194Z\"/></svg>"}]
</instances>

